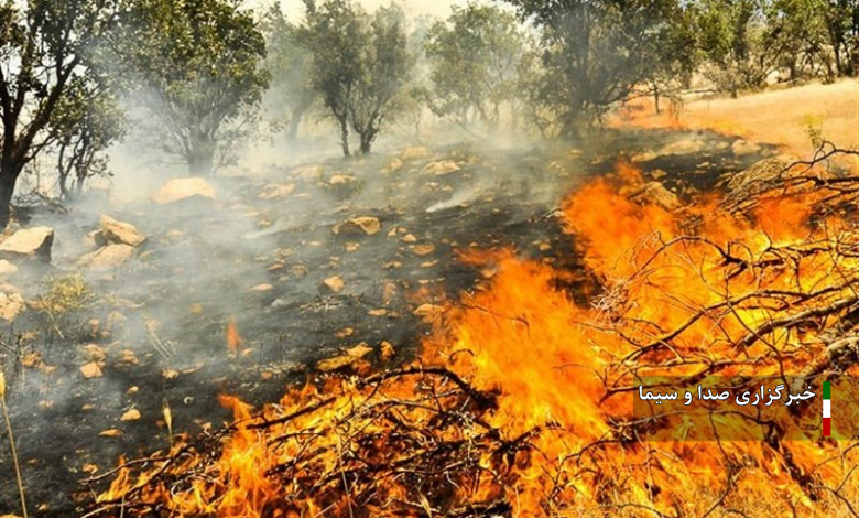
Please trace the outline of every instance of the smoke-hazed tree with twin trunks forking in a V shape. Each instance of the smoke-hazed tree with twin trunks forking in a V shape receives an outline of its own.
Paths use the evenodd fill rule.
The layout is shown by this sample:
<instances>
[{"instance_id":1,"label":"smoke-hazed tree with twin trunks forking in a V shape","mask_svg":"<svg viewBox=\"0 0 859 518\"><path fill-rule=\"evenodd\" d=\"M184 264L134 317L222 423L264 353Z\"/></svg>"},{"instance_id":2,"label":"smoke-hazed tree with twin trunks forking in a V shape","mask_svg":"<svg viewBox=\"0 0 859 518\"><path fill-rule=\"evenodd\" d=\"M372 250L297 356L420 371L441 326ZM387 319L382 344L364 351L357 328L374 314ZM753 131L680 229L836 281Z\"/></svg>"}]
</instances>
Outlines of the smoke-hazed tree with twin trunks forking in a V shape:
<instances>
[{"instance_id":1,"label":"smoke-hazed tree with twin trunks forking in a V shape","mask_svg":"<svg viewBox=\"0 0 859 518\"><path fill-rule=\"evenodd\" d=\"M345 157L349 131L369 153L383 125L398 110L412 62L405 17L396 4L370 17L349 0L307 8L304 35L313 50L312 84L340 130Z\"/></svg>"}]
</instances>

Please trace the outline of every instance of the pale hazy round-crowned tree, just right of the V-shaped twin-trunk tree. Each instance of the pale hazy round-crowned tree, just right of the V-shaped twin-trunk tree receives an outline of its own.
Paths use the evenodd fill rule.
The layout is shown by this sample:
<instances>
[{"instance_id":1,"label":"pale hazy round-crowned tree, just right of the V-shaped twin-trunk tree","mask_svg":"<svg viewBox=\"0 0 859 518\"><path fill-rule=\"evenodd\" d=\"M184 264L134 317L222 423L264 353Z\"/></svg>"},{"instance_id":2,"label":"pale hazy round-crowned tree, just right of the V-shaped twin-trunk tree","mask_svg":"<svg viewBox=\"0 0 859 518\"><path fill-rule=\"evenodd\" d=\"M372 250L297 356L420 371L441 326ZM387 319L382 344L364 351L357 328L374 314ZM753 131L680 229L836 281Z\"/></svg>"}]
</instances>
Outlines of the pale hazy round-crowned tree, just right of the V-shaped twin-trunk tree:
<instances>
[{"instance_id":1,"label":"pale hazy round-crowned tree, just right of the V-shaped twin-trunk tree","mask_svg":"<svg viewBox=\"0 0 859 518\"><path fill-rule=\"evenodd\" d=\"M432 66L427 104L434 114L460 126L474 119L494 128L504 102L512 104L525 37L515 15L491 6L454 6L446 22L427 33Z\"/></svg>"}]
</instances>

